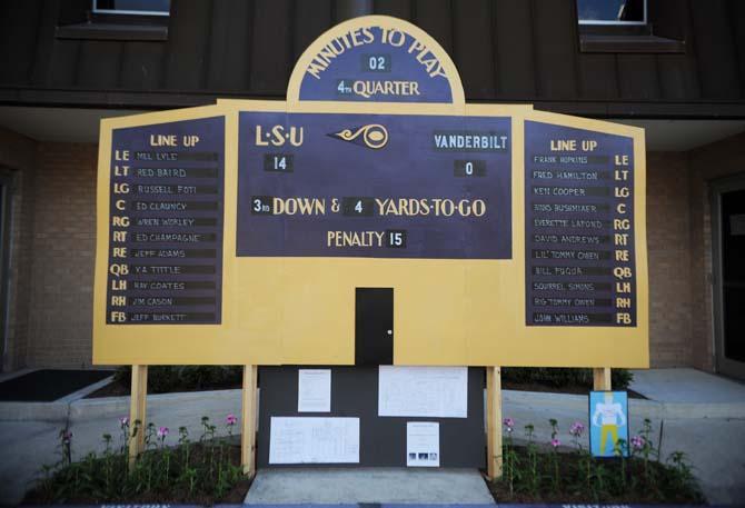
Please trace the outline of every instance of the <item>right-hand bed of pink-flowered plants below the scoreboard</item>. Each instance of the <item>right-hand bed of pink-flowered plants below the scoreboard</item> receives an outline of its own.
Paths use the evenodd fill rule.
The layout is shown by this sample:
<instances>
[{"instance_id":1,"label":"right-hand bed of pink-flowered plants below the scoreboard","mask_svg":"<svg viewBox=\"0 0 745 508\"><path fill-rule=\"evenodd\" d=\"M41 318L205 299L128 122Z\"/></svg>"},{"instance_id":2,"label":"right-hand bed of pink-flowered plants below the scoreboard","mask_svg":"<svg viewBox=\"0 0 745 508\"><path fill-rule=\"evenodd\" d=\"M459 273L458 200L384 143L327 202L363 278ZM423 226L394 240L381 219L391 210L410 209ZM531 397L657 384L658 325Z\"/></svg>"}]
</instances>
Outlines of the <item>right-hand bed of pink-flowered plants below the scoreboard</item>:
<instances>
[{"instance_id":1,"label":"right-hand bed of pink-flowered plants below the scoreboard","mask_svg":"<svg viewBox=\"0 0 745 508\"><path fill-rule=\"evenodd\" d=\"M569 426L574 447L562 448L558 421L548 420L550 439L536 444L536 428L524 426L525 446L514 441L515 421L505 418L504 475L490 488L500 501L566 502L681 502L704 500L685 454L674 452L666 462L652 460L659 450L652 446L652 422L645 421L628 442L618 439L613 458L596 458L584 444L586 425Z\"/></svg>"}]
</instances>

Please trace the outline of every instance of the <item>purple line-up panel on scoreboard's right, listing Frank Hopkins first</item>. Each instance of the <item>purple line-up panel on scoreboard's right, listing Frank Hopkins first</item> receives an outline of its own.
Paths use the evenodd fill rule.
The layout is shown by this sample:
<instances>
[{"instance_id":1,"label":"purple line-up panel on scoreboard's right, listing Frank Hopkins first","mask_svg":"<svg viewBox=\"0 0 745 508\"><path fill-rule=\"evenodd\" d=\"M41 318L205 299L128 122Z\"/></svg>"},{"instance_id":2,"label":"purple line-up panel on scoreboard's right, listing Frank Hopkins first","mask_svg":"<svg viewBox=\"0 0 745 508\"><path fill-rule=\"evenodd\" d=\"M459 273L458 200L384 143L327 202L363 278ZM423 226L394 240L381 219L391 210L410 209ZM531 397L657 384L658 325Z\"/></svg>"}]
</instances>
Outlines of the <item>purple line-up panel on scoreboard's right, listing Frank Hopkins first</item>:
<instances>
[{"instance_id":1,"label":"purple line-up panel on scoreboard's right, listing Frank Hopkins first","mask_svg":"<svg viewBox=\"0 0 745 508\"><path fill-rule=\"evenodd\" d=\"M636 326L634 142L525 122L526 322Z\"/></svg>"}]
</instances>

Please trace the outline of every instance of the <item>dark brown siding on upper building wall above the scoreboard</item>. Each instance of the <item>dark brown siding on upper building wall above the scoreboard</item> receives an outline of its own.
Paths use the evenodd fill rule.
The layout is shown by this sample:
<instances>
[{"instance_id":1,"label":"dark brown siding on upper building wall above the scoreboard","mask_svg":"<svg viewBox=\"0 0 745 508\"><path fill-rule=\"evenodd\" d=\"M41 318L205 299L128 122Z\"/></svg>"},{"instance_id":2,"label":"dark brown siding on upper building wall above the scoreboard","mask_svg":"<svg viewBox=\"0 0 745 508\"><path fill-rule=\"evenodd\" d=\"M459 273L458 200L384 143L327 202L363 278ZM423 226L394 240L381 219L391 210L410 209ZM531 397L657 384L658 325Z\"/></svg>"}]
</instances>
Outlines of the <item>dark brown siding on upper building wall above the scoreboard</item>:
<instances>
[{"instance_id":1,"label":"dark brown siding on upper building wall above the scoreboard","mask_svg":"<svg viewBox=\"0 0 745 508\"><path fill-rule=\"evenodd\" d=\"M148 108L281 98L307 44L340 21L339 2L171 0L168 40L149 42L57 37L57 26L86 20L90 0L0 2L0 99ZM656 54L580 52L575 0L372 3L436 39L470 101L600 117L743 114L742 0L649 2L655 33L686 44Z\"/></svg>"}]
</instances>

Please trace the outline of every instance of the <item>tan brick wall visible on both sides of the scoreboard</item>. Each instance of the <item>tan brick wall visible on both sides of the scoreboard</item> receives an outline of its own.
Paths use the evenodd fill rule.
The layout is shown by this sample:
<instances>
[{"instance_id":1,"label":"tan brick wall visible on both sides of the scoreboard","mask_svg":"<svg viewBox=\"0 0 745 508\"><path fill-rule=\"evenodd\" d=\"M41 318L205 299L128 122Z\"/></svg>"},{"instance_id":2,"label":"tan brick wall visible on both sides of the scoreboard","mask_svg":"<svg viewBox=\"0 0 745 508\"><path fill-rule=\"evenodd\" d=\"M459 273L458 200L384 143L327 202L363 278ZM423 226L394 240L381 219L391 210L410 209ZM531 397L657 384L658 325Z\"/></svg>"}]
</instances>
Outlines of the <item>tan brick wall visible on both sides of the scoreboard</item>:
<instances>
[{"instance_id":1,"label":"tan brick wall visible on both sides of the scoreboard","mask_svg":"<svg viewBox=\"0 0 745 508\"><path fill-rule=\"evenodd\" d=\"M95 146L39 149L29 365L90 362ZM650 353L692 363L689 182L685 153L647 156Z\"/></svg>"}]
</instances>

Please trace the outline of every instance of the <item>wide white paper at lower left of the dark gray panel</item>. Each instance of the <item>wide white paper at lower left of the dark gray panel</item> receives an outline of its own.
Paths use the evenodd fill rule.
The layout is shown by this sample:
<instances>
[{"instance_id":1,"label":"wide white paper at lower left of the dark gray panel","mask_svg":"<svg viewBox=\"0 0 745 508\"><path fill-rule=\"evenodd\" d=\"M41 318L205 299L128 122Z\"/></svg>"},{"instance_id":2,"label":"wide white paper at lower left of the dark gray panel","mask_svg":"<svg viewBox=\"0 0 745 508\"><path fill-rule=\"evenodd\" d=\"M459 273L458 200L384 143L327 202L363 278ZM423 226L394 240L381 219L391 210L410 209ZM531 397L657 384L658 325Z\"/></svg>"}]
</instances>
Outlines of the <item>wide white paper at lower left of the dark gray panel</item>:
<instances>
[{"instance_id":1,"label":"wide white paper at lower left of the dark gray panel","mask_svg":"<svg viewBox=\"0 0 745 508\"><path fill-rule=\"evenodd\" d=\"M269 464L359 464L359 418L271 417Z\"/></svg>"}]
</instances>

